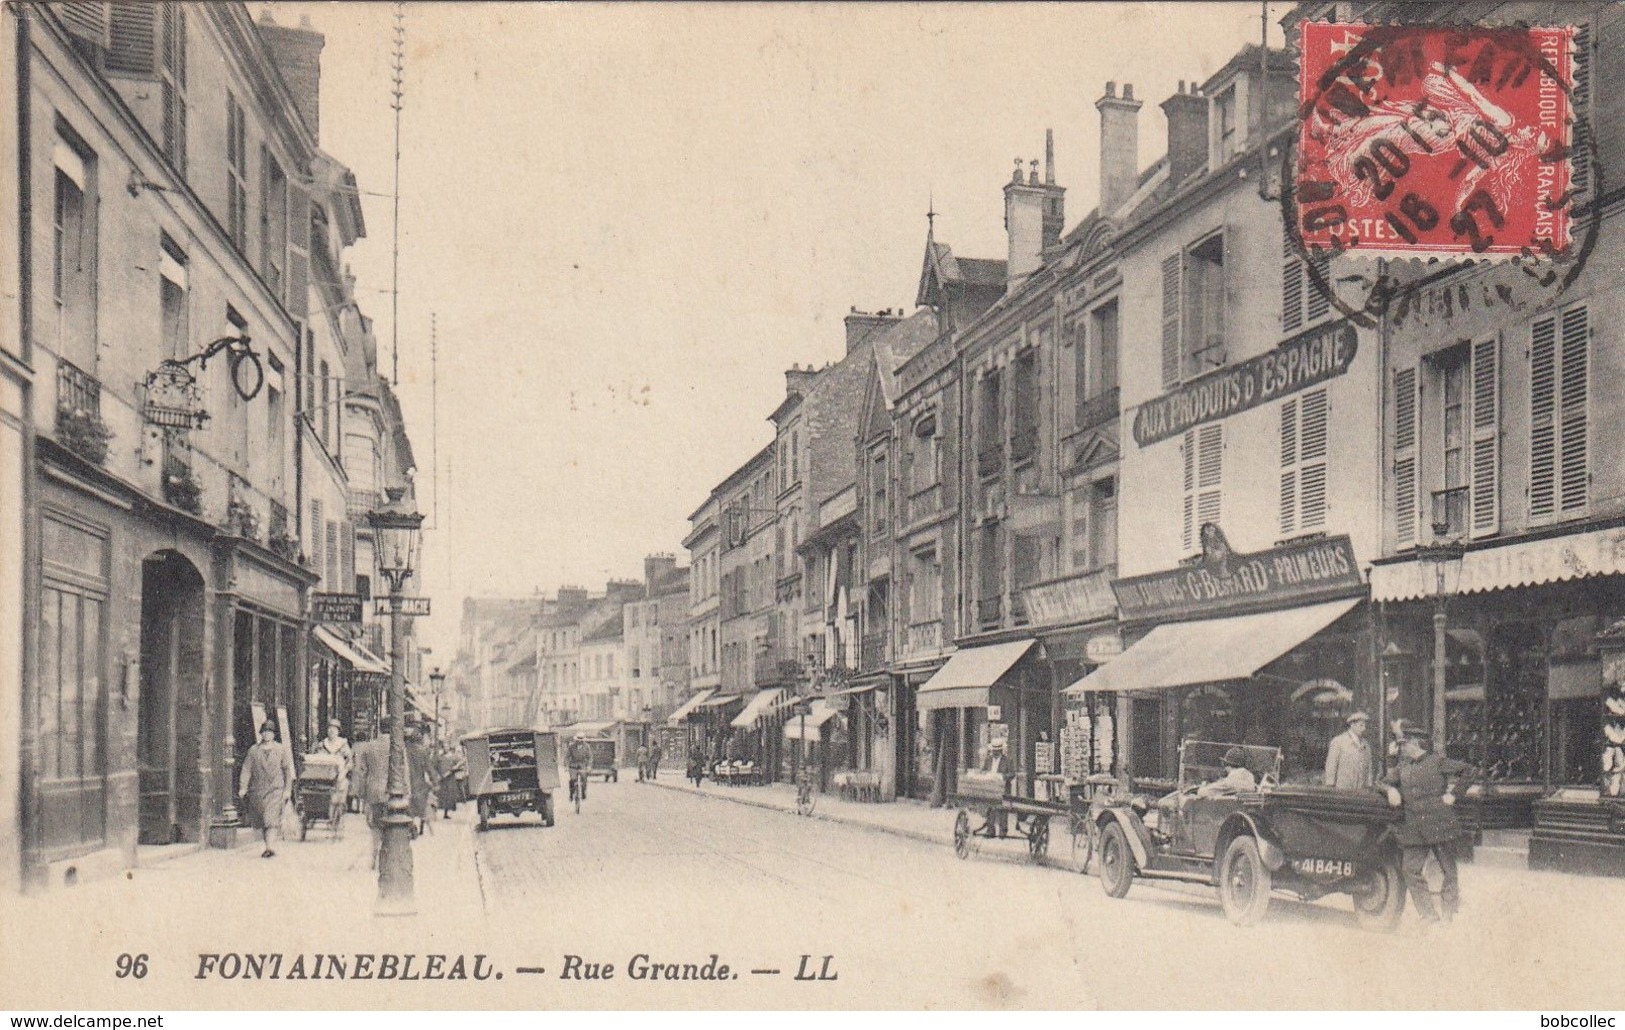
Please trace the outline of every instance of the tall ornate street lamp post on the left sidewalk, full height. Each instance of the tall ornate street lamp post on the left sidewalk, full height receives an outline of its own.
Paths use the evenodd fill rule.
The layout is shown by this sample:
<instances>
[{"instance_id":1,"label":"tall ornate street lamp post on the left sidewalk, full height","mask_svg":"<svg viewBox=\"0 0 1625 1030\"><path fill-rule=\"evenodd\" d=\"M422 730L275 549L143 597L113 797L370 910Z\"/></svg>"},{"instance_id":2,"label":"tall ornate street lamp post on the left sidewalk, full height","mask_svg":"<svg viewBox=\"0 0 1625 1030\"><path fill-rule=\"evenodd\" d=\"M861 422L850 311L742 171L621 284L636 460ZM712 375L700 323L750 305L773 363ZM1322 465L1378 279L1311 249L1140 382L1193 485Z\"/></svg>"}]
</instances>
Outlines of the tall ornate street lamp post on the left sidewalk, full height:
<instances>
[{"instance_id":1,"label":"tall ornate street lamp post on the left sidewalk, full height","mask_svg":"<svg viewBox=\"0 0 1625 1030\"><path fill-rule=\"evenodd\" d=\"M388 487L388 504L367 513L379 575L390 586L390 799L384 816L384 846L379 855L377 915L413 915L411 806L406 801L406 622L401 588L411 578L418 557L422 515L403 500L406 491Z\"/></svg>"}]
</instances>

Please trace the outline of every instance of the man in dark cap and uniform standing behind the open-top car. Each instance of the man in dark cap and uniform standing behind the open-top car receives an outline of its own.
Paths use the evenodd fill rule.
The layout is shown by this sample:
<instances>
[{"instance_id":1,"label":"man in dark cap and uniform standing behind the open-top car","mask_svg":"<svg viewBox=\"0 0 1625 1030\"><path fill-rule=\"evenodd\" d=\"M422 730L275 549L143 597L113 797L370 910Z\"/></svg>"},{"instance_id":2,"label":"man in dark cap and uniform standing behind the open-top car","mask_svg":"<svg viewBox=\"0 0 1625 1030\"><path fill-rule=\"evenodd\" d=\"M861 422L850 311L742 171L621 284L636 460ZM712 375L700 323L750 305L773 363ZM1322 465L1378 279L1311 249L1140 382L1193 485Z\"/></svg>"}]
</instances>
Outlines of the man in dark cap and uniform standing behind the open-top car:
<instances>
[{"instance_id":1,"label":"man in dark cap and uniform standing behind the open-top car","mask_svg":"<svg viewBox=\"0 0 1625 1030\"><path fill-rule=\"evenodd\" d=\"M1402 850L1401 871L1406 887L1415 902L1417 915L1425 924L1440 921L1440 910L1428 890L1428 855L1438 859L1445 884L1438 898L1448 923L1461 905L1461 885L1456 879L1456 840L1461 822L1456 819L1456 796L1467 790L1474 768L1466 762L1432 754L1428 733L1415 723L1399 721L1399 765L1388 772L1388 804L1404 807L1404 820L1394 830Z\"/></svg>"}]
</instances>

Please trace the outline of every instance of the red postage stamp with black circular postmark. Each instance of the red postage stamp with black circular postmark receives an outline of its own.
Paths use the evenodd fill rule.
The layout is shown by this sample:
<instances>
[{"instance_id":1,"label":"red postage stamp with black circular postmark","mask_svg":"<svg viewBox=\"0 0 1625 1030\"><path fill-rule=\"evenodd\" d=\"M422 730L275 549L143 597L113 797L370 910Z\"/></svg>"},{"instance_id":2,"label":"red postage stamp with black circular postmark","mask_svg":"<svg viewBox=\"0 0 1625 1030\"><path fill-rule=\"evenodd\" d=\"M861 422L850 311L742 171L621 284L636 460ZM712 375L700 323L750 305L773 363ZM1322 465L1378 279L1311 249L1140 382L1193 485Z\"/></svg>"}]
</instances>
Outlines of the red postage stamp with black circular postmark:
<instances>
[{"instance_id":1,"label":"red postage stamp with black circular postmark","mask_svg":"<svg viewBox=\"0 0 1625 1030\"><path fill-rule=\"evenodd\" d=\"M1305 247L1550 255L1571 237L1568 28L1302 26Z\"/></svg>"}]
</instances>

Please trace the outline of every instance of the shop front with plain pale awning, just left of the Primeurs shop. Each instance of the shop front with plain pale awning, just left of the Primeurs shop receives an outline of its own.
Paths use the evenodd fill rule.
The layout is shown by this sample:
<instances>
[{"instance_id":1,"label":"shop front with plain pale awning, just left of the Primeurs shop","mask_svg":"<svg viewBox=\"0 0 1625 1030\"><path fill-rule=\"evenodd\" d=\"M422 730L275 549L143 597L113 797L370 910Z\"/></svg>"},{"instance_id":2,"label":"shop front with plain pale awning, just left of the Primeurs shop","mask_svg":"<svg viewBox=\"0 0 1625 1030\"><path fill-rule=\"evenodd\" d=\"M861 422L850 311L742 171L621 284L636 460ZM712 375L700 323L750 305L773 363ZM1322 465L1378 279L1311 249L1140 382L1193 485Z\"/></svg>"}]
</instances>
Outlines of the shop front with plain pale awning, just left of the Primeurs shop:
<instances>
[{"instance_id":1,"label":"shop front with plain pale awning, just left of the Primeurs shop","mask_svg":"<svg viewBox=\"0 0 1625 1030\"><path fill-rule=\"evenodd\" d=\"M1032 638L962 647L915 694L920 729L931 739L931 803L959 791L960 773L980 770L1004 746L1014 790L1030 796L1035 751L1055 739L1055 690Z\"/></svg>"}]
</instances>

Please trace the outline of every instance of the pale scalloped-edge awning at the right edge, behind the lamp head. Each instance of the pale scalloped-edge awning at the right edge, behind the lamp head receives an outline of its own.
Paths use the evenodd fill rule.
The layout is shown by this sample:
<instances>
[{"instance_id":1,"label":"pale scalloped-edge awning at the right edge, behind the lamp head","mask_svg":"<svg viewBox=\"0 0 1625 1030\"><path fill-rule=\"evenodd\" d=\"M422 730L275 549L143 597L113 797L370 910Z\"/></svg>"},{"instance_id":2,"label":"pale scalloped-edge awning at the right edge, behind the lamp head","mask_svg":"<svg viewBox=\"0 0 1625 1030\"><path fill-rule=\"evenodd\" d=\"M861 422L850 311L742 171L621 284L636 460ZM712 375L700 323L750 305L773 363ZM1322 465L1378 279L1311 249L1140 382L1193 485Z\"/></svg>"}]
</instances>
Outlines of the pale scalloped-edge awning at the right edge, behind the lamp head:
<instances>
[{"instance_id":1,"label":"pale scalloped-edge awning at the right edge, behind the lamp head","mask_svg":"<svg viewBox=\"0 0 1625 1030\"><path fill-rule=\"evenodd\" d=\"M1625 573L1625 528L1594 530L1467 551L1453 593L1514 590ZM1432 598L1435 573L1420 560L1372 567L1373 601Z\"/></svg>"}]
</instances>

